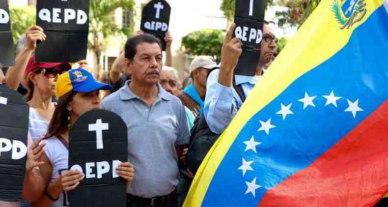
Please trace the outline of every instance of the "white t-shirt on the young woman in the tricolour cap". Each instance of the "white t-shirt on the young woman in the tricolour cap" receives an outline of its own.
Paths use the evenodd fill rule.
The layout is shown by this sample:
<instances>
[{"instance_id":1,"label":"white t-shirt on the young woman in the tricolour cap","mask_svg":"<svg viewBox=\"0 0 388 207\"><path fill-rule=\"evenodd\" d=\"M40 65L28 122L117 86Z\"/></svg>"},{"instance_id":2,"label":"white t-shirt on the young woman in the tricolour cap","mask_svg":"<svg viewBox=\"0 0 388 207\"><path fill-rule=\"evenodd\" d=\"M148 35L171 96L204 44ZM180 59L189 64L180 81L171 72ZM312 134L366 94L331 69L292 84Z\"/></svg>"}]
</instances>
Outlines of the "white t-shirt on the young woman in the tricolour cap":
<instances>
[{"instance_id":1,"label":"white t-shirt on the young woman in the tricolour cap","mask_svg":"<svg viewBox=\"0 0 388 207\"><path fill-rule=\"evenodd\" d=\"M53 166L53 173L50 184L53 183L62 171L68 170L69 150L58 138L51 137L44 140L46 143L45 153ZM66 142L66 141L63 141ZM69 207L69 201L66 192L62 192L59 199L54 202L52 207Z\"/></svg>"}]
</instances>

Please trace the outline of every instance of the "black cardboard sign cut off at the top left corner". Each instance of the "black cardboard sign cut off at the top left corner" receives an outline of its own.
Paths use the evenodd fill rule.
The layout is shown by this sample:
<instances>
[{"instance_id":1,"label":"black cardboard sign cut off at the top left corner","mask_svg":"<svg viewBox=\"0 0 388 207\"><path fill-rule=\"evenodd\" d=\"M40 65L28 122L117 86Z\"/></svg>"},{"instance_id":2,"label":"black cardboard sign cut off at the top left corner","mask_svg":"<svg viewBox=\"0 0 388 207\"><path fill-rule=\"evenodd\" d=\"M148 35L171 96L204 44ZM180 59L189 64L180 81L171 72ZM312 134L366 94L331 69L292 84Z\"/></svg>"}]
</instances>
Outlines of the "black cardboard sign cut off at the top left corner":
<instances>
[{"instance_id":1,"label":"black cardboard sign cut off at the top left corner","mask_svg":"<svg viewBox=\"0 0 388 207\"><path fill-rule=\"evenodd\" d=\"M0 64L4 67L14 64L11 15L8 0L0 0Z\"/></svg>"}]
</instances>

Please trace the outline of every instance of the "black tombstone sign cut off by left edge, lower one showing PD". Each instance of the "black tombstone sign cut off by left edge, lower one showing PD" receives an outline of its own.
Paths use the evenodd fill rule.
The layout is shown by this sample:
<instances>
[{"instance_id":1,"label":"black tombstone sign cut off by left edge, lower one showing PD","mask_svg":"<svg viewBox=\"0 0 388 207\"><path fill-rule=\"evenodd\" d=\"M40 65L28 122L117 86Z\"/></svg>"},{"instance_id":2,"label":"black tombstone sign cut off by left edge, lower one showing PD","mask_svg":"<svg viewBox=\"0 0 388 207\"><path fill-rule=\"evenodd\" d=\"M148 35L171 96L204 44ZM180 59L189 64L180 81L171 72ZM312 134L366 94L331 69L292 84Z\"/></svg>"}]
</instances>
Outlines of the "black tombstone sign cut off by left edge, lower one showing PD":
<instances>
[{"instance_id":1,"label":"black tombstone sign cut off by left edge, lower one showing PD","mask_svg":"<svg viewBox=\"0 0 388 207\"><path fill-rule=\"evenodd\" d=\"M22 198L28 117L29 106L22 95L0 85L0 201Z\"/></svg>"}]
</instances>

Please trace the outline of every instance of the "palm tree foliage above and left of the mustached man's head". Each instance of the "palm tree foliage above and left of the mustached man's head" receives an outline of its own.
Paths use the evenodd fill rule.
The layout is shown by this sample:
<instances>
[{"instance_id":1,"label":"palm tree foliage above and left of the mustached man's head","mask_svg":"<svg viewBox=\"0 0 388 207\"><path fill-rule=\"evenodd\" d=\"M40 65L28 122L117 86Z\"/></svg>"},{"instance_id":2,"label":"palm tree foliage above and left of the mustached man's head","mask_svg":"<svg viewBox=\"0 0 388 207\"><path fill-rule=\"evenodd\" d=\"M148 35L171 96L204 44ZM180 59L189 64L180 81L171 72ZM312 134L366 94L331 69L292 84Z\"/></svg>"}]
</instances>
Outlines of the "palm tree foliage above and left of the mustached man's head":
<instances>
[{"instance_id":1,"label":"palm tree foliage above and left of the mustached man's head","mask_svg":"<svg viewBox=\"0 0 388 207\"><path fill-rule=\"evenodd\" d=\"M114 10L122 7L133 11L134 5L134 0L90 0L88 48L93 51L97 63L95 75L102 68L100 57L107 49L105 40L111 35L128 36L134 30L134 24L130 28L120 28L114 24Z\"/></svg>"}]
</instances>

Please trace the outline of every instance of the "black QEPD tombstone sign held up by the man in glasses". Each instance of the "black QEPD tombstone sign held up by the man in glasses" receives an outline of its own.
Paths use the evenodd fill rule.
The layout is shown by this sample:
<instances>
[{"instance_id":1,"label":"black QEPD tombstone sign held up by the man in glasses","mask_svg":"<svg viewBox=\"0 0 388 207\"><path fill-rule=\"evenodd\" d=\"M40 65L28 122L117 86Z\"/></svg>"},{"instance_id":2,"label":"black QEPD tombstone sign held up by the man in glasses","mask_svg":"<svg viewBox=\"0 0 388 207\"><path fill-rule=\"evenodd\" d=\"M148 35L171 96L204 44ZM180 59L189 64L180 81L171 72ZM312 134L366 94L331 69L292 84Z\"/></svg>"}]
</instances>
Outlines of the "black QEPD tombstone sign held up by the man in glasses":
<instances>
[{"instance_id":1,"label":"black QEPD tombstone sign held up by the man in glasses","mask_svg":"<svg viewBox=\"0 0 388 207\"><path fill-rule=\"evenodd\" d=\"M235 69L236 75L254 76L260 59L263 38L265 0L236 0L233 36L243 43L243 54Z\"/></svg>"}]
</instances>

